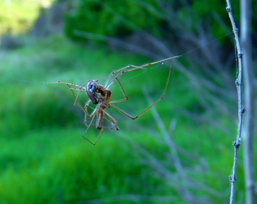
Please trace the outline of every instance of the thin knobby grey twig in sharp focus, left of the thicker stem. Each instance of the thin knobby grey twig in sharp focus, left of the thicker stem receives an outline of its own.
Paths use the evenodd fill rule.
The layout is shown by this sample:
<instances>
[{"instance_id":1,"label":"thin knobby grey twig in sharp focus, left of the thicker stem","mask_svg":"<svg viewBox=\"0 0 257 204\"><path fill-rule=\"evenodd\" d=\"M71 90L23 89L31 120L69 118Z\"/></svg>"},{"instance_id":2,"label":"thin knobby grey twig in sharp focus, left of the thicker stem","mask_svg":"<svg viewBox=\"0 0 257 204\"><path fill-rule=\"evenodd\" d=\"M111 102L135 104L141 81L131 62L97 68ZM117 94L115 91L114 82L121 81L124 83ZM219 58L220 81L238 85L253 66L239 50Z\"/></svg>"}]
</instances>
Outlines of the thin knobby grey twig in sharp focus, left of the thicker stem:
<instances>
[{"instance_id":1,"label":"thin knobby grey twig in sharp focus, left of the thicker stem","mask_svg":"<svg viewBox=\"0 0 257 204\"><path fill-rule=\"evenodd\" d=\"M245 112L245 109L242 108L242 56L243 53L241 52L240 44L239 44L239 37L238 37L238 29L235 25L234 17L232 14L232 8L229 0L226 0L227 2L227 7L226 10L228 12L233 33L234 33L234 38L235 38L235 50L236 50L236 59L237 59L237 69L238 69L238 74L237 78L235 80L236 84L236 89L237 89L237 95L238 95L238 128L237 128L237 136L236 136L236 141L233 142L233 145L235 147L235 153L234 153L234 162L233 162L233 167L232 167L232 173L229 176L230 179L230 204L234 203L235 200L235 181L236 181L236 168L237 168L237 161L238 161L238 151L240 147L240 141L241 141L241 130L242 130L242 116L243 113Z\"/></svg>"}]
</instances>

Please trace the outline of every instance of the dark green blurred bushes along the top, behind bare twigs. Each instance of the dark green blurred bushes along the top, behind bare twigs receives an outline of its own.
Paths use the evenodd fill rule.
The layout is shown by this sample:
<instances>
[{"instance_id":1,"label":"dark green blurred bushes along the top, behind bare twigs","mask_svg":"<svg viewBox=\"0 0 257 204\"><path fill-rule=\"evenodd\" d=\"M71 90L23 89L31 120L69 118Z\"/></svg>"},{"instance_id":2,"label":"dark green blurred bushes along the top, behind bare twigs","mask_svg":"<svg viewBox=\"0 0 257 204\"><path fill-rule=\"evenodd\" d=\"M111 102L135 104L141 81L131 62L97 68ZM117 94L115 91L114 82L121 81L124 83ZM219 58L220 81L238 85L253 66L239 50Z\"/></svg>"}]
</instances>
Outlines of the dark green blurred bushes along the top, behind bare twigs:
<instances>
[{"instance_id":1,"label":"dark green blurred bushes along the top, behind bare twigs","mask_svg":"<svg viewBox=\"0 0 257 204\"><path fill-rule=\"evenodd\" d=\"M232 0L231 3L233 9L238 11L239 1ZM180 35L178 29L187 22L183 25L186 32L196 31L196 27L201 24L206 24L207 28L208 24L212 35L218 38L228 31L225 26L230 27L222 1L80 0L70 1L69 5L71 12L66 15L65 33L72 39L82 41L85 38L76 36L75 29L115 37L142 29L153 36L167 38L170 33ZM239 12L235 12L234 17L239 22ZM175 18L176 21L172 21ZM257 17L253 18L255 22ZM221 25L221 21L224 25Z\"/></svg>"}]
</instances>

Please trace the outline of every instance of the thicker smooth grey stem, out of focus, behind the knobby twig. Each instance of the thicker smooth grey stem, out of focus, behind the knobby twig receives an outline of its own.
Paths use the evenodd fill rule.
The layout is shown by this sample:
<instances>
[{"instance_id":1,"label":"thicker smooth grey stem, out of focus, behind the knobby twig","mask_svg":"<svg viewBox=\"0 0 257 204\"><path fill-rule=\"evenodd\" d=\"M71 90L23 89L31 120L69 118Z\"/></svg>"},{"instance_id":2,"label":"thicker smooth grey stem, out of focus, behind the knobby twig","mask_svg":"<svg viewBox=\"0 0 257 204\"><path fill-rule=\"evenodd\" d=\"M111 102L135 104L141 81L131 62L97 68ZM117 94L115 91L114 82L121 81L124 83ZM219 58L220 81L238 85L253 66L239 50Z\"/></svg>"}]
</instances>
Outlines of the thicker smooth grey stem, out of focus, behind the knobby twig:
<instances>
[{"instance_id":1,"label":"thicker smooth grey stem, out of focus, behind the knobby twig","mask_svg":"<svg viewBox=\"0 0 257 204\"><path fill-rule=\"evenodd\" d=\"M255 203L255 182L253 172L253 129L254 129L254 75L252 70L252 42L251 42L251 0L241 0L240 4L240 43L244 52L243 75L245 121L242 138L244 141L244 172L245 172L245 203Z\"/></svg>"}]
</instances>

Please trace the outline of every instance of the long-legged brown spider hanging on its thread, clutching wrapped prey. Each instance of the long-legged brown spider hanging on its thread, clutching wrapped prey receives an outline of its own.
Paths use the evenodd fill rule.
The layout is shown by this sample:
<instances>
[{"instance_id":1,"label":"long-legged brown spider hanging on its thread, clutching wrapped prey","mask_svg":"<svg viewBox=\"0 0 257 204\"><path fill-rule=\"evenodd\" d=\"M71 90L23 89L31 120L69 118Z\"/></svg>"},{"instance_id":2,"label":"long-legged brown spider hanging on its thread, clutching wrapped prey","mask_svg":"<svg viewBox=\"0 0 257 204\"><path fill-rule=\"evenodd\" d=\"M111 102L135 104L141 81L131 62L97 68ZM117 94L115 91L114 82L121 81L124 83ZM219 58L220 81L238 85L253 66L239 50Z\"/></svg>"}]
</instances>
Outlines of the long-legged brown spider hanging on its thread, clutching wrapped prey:
<instances>
[{"instance_id":1,"label":"long-legged brown spider hanging on its thread, clutching wrapped prey","mask_svg":"<svg viewBox=\"0 0 257 204\"><path fill-rule=\"evenodd\" d=\"M143 113L145 113L148 109L152 108L155 104L157 104L160 100L162 100L166 90L167 90L167 86L168 86L168 82L170 79L170 74L171 74L171 65L169 68L169 73L168 73L168 77L167 77L167 82L165 85L165 88L163 90L163 93L161 95L161 97L155 101L152 105L150 105L148 108L144 109L142 112L140 112L139 114L137 114L135 117L125 113L123 110L119 109L117 106L114 105L114 103L119 103L119 102L123 102L123 101L127 101L128 100L128 95L125 93L125 90L123 88L123 86L121 85L120 81L119 81L119 77L124 74L125 72L130 72L136 69L145 69L144 67L149 66L149 65L153 65L153 64L157 64L163 61L167 61L167 60L172 60L174 58L178 58L180 56L174 56L174 57L170 57L164 60L160 60L160 61L156 61L156 62L152 62L152 63L148 63L148 64L144 64L142 66L134 66L134 65L128 65L125 67L122 67L118 70L114 70L110 73L110 75L106 78L106 81L104 83L104 85L100 85L99 84L99 80L88 80L84 85L80 86L80 85L76 85L74 83L68 83L68 82L63 82L63 81L56 81L56 82L49 82L49 83L64 83L68 85L68 89L70 89L72 91L73 97L75 99L75 103L74 104L78 104L78 106L80 107L80 109L82 109L85 112L85 120L84 123L87 126L87 129L85 131L88 131L88 129L90 128L90 126L92 125L93 119L95 118L95 115L97 117L96 119L96 129L101 130L101 133L99 134L98 138L96 139L96 141L94 143L92 143L88 138L84 138L89 141L91 144L95 145L99 138L101 137L101 135L104 133L104 128L109 128L109 127L104 127L103 126L103 122L104 119L106 119L110 124L112 124L112 127L109 129L113 129L114 127L116 128L116 130L119 130L119 127L117 126L118 121L116 119L114 119L114 117L112 117L108 111L106 110L106 108L110 108L111 106L118 110L121 114L127 116L128 118L134 120L137 119L140 115L142 115ZM128 69L132 67L131 69ZM116 76L115 73L118 73ZM119 99L119 100L110 100L111 97L111 90L109 89L110 85L112 85L115 81L118 82L124 98L123 99ZM49 83L45 83L45 84L49 84ZM75 87L79 87L79 88L72 88L70 85L73 85ZM77 96L75 96L74 91L73 90L78 90L78 94ZM88 96L88 99L85 102L84 107L82 107L80 105L80 103L78 102L78 95L80 93L80 91L85 91L86 95ZM92 102L92 104L96 104L95 108L90 106L90 102ZM88 112L88 108L92 109L92 112L89 113ZM91 119L90 123L87 123L87 119Z\"/></svg>"}]
</instances>

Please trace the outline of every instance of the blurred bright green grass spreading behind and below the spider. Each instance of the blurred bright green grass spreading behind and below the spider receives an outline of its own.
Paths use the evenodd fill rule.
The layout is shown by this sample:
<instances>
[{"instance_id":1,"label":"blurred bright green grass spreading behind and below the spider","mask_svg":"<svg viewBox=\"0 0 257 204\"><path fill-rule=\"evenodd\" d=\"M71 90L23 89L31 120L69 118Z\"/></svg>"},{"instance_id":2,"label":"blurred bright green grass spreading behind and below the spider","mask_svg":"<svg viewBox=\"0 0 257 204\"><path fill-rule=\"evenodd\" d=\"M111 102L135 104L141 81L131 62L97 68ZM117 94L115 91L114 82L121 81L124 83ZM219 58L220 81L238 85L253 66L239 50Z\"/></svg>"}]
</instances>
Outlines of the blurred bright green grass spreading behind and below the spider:
<instances>
[{"instance_id":1,"label":"blurred bright green grass spreading behind and below the spider","mask_svg":"<svg viewBox=\"0 0 257 204\"><path fill-rule=\"evenodd\" d=\"M73 96L65 84L41 84L61 80L83 85L87 80L108 76L112 70L128 64L142 65L149 59L52 36L15 51L1 51L0 61L0 203L79 202L123 194L176 196L176 203L183 203L172 187L141 163L133 153L137 150L131 149L115 129L105 131L96 146L82 138L86 130L84 115L73 106ZM158 99L167 70L168 66L156 65L146 72L124 74L121 82L129 101L119 107L132 115L146 108L143 86ZM114 97L118 91L114 85ZM81 103L85 102L83 94ZM195 190L196 195L208 195L214 203L227 202L236 124L222 114L216 116L229 132L224 134L208 123L181 114L186 109L204 121L206 113L197 103L194 90L175 69L165 97L156 107L167 128L170 120L176 119L173 138L182 165L191 169L188 174L224 197L200 190ZM119 121L119 132L128 134L165 163L167 147L149 134L159 132L151 111L135 121L115 110L108 111ZM94 127L87 133L95 139L98 134ZM205 173L199 171L201 161ZM237 178L237 201L242 203L241 158Z\"/></svg>"}]
</instances>

